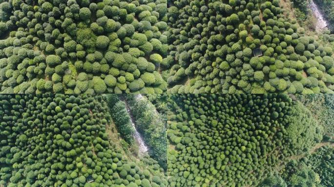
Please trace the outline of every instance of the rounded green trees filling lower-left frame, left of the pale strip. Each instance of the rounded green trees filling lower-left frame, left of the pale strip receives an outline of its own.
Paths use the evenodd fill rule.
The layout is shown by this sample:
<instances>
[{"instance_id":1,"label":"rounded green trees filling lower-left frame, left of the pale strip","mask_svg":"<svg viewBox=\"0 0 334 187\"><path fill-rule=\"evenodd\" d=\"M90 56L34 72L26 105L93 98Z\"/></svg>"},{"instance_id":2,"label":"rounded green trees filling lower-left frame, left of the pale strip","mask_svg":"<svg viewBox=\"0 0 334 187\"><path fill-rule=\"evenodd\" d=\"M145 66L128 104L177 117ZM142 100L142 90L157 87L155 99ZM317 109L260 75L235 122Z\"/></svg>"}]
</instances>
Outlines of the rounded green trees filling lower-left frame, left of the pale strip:
<instances>
[{"instance_id":1,"label":"rounded green trees filling lower-left frame, left of the pale strip","mask_svg":"<svg viewBox=\"0 0 334 187\"><path fill-rule=\"evenodd\" d=\"M108 139L108 110L101 95L1 94L0 186L166 187L157 161Z\"/></svg>"}]
</instances>

